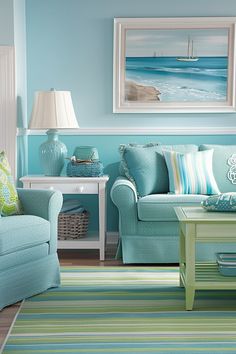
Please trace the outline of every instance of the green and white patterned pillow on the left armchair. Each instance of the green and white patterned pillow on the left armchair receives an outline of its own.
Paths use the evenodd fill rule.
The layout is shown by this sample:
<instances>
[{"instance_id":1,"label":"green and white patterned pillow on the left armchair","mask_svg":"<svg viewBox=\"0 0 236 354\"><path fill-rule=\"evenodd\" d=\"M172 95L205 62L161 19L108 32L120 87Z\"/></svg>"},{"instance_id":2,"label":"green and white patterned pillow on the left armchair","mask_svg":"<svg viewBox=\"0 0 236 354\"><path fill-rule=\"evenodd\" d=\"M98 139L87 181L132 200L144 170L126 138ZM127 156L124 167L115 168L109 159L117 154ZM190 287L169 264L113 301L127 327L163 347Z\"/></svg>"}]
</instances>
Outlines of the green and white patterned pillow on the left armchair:
<instances>
[{"instance_id":1,"label":"green and white patterned pillow on the left armchair","mask_svg":"<svg viewBox=\"0 0 236 354\"><path fill-rule=\"evenodd\" d=\"M22 209L4 151L0 152L0 213L2 216L21 214Z\"/></svg>"}]
</instances>

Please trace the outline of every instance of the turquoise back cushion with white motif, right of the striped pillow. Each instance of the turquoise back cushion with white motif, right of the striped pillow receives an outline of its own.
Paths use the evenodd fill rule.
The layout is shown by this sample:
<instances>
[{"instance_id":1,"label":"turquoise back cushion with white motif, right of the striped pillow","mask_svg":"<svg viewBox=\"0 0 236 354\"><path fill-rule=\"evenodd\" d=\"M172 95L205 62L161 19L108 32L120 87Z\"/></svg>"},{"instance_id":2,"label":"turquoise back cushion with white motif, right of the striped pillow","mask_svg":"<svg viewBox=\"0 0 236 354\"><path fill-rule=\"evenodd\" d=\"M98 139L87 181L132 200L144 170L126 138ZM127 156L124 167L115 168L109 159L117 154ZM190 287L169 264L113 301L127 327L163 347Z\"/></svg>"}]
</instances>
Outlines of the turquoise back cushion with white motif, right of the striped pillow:
<instances>
[{"instance_id":1,"label":"turquoise back cushion with white motif, right of the striped pillow","mask_svg":"<svg viewBox=\"0 0 236 354\"><path fill-rule=\"evenodd\" d=\"M236 192L236 145L207 145L199 146L199 150L213 149L213 173L219 190Z\"/></svg>"}]
</instances>

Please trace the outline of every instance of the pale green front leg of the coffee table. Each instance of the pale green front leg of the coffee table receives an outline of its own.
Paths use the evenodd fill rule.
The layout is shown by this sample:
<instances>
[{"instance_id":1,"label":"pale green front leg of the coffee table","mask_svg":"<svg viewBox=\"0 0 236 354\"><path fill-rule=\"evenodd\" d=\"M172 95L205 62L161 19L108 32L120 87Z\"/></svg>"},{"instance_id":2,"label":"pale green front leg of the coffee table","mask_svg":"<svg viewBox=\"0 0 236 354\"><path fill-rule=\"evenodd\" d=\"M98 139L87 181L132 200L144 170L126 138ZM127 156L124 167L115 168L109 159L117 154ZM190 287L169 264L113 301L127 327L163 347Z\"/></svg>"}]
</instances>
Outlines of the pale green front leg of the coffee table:
<instances>
[{"instance_id":1,"label":"pale green front leg of the coffee table","mask_svg":"<svg viewBox=\"0 0 236 354\"><path fill-rule=\"evenodd\" d=\"M185 301L186 310L192 310L195 296L195 225L186 225L185 237L186 277Z\"/></svg>"}]
</instances>

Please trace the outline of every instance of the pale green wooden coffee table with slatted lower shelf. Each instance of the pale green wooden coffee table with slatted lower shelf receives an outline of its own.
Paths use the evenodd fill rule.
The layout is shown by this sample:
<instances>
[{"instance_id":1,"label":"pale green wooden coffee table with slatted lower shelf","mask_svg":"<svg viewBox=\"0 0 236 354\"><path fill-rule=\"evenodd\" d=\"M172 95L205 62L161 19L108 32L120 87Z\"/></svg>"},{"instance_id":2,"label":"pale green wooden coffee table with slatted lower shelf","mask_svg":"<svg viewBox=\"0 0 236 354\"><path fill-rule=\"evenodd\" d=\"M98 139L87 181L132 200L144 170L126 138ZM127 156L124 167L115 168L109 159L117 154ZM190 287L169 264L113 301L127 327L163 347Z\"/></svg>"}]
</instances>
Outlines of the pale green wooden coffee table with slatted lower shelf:
<instances>
[{"instance_id":1,"label":"pale green wooden coffee table with slatted lower shelf","mask_svg":"<svg viewBox=\"0 0 236 354\"><path fill-rule=\"evenodd\" d=\"M192 310L195 290L236 289L236 277L225 277L213 262L197 262L197 242L236 242L236 213L208 212L202 207L176 207L180 223L180 286L186 310Z\"/></svg>"}]
</instances>

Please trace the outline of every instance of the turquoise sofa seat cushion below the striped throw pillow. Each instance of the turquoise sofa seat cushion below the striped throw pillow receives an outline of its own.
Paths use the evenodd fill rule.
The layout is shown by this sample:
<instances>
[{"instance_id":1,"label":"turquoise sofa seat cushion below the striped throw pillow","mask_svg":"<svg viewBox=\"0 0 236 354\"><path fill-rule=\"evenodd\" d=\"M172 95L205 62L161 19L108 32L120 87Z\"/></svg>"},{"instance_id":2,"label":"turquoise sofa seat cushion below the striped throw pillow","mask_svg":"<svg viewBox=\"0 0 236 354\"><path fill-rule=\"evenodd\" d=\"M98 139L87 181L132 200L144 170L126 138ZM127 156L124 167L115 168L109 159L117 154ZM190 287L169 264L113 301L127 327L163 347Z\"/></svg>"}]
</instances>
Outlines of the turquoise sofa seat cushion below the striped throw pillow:
<instances>
[{"instance_id":1,"label":"turquoise sofa seat cushion below the striped throw pillow","mask_svg":"<svg viewBox=\"0 0 236 354\"><path fill-rule=\"evenodd\" d=\"M152 194L138 200L138 218L142 221L177 221L174 207L200 206L201 194Z\"/></svg>"}]
</instances>

